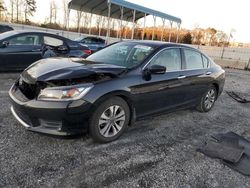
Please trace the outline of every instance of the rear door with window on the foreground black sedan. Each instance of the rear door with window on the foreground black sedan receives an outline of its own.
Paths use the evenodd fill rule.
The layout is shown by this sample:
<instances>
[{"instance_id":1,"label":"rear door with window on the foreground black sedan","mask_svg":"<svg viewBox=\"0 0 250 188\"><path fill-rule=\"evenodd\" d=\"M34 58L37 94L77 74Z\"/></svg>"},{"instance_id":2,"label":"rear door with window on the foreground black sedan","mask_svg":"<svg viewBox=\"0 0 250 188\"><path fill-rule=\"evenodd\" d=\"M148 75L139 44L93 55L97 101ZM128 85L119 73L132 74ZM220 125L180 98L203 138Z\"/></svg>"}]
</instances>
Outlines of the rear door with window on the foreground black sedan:
<instances>
[{"instance_id":1,"label":"rear door with window on the foreground black sedan","mask_svg":"<svg viewBox=\"0 0 250 188\"><path fill-rule=\"evenodd\" d=\"M196 103L206 92L211 80L208 66L209 63L203 60L203 55L194 49L183 48L185 82L188 85L186 100L189 103Z\"/></svg>"}]
</instances>

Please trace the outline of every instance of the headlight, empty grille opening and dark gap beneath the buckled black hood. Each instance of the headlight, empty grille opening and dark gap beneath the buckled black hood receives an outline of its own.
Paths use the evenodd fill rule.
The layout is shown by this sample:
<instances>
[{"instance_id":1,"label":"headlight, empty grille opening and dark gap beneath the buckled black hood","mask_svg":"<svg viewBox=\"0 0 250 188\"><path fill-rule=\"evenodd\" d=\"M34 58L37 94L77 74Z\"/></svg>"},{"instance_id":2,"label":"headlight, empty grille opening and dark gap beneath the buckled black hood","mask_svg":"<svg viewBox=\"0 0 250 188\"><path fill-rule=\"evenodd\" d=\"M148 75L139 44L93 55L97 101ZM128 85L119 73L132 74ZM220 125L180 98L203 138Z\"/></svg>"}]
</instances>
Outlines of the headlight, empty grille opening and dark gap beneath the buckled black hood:
<instances>
[{"instance_id":1,"label":"headlight, empty grille opening and dark gap beneath the buckled black hood","mask_svg":"<svg viewBox=\"0 0 250 188\"><path fill-rule=\"evenodd\" d=\"M70 100L79 99L80 93L89 91L94 84L111 80L114 75L93 74L84 78L48 80L48 81L29 81L22 75L15 83L27 100ZM84 93L85 93L84 92ZM78 94L78 95L77 95ZM85 93L86 94L86 93ZM74 98L78 96L77 98ZM25 101L23 101L25 102Z\"/></svg>"}]
</instances>

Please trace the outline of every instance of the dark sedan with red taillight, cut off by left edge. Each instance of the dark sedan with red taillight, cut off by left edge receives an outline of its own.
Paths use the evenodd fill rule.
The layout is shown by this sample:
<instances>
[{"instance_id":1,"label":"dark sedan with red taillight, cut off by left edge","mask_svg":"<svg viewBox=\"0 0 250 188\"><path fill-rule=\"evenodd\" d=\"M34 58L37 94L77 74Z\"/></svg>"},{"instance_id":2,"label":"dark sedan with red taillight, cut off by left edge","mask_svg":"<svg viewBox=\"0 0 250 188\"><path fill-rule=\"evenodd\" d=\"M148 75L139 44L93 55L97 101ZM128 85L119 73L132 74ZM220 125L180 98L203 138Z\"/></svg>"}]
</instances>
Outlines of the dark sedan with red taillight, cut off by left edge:
<instances>
[{"instance_id":1,"label":"dark sedan with red taillight, cut off by left edge","mask_svg":"<svg viewBox=\"0 0 250 188\"><path fill-rule=\"evenodd\" d=\"M9 31L0 34L0 71L24 70L51 56L87 57L91 51L75 41L44 32ZM52 49L52 50L51 50Z\"/></svg>"}]
</instances>

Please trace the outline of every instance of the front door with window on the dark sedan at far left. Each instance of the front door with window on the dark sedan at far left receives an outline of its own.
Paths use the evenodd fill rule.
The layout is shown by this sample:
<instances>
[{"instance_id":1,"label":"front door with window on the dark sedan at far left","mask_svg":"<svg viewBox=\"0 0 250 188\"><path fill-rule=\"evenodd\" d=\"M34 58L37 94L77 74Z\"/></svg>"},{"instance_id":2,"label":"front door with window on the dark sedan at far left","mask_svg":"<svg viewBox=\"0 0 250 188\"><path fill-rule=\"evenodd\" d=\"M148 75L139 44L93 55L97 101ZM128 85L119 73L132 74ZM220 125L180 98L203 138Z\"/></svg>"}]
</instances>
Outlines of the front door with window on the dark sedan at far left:
<instances>
[{"instance_id":1,"label":"front door with window on the dark sedan at far left","mask_svg":"<svg viewBox=\"0 0 250 188\"><path fill-rule=\"evenodd\" d=\"M1 70L25 69L42 58L39 34L21 34L5 41L9 44L0 49Z\"/></svg>"}]
</instances>

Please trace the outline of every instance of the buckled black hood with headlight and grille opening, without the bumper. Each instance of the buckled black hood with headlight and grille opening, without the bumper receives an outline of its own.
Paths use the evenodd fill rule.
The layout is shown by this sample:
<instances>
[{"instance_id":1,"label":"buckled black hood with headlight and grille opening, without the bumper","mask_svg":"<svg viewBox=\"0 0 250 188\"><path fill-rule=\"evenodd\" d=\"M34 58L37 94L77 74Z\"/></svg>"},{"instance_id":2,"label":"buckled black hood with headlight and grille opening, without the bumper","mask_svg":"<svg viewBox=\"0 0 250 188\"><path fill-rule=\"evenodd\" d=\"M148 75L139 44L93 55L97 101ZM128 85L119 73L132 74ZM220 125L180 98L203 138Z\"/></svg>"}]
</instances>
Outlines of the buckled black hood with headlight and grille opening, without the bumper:
<instances>
[{"instance_id":1,"label":"buckled black hood with headlight and grille opening, without the bumper","mask_svg":"<svg viewBox=\"0 0 250 188\"><path fill-rule=\"evenodd\" d=\"M95 84L117 78L124 70L124 67L85 60L46 59L27 68L15 87L26 101L73 100L82 97L82 93L86 94Z\"/></svg>"}]
</instances>

